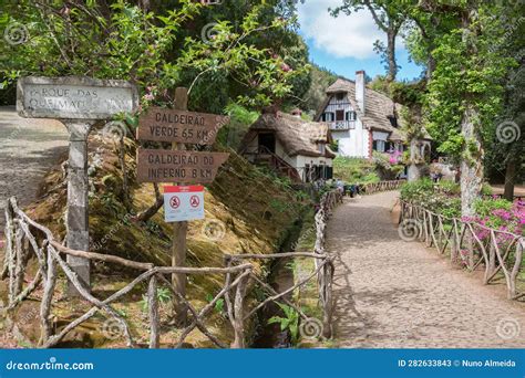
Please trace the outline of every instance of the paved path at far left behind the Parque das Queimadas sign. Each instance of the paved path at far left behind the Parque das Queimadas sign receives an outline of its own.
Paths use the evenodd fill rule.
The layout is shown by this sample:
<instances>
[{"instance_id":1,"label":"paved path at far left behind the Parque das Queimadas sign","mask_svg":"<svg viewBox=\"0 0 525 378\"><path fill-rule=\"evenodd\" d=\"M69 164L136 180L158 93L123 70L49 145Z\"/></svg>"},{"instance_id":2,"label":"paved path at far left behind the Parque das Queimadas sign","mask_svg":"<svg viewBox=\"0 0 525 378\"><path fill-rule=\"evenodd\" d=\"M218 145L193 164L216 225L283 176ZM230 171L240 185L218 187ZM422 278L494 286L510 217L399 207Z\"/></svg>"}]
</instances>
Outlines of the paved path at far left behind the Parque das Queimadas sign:
<instances>
[{"instance_id":1,"label":"paved path at far left behind the Parque das Queimadas sign","mask_svg":"<svg viewBox=\"0 0 525 378\"><path fill-rule=\"evenodd\" d=\"M13 107L0 107L0 239L6 200L30 203L43 176L68 151L65 126L52 119L20 118Z\"/></svg>"}]
</instances>

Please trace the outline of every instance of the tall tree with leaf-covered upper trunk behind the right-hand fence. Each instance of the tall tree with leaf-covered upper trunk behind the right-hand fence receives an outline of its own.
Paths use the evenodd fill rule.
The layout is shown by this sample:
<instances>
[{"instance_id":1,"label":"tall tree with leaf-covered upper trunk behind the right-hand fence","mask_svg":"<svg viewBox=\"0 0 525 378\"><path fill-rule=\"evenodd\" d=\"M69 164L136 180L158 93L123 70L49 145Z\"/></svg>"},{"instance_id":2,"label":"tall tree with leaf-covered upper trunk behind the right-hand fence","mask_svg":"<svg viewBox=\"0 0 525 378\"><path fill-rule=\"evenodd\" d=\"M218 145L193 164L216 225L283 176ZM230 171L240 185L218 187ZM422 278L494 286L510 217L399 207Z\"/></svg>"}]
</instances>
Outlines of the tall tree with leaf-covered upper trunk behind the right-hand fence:
<instances>
[{"instance_id":1,"label":"tall tree with leaf-covered upper trunk behind the right-hand fence","mask_svg":"<svg viewBox=\"0 0 525 378\"><path fill-rule=\"evenodd\" d=\"M486 135L494 133L501 112L504 78L516 60L493 49L506 24L496 14L497 2L465 0L421 1L422 11L453 15L451 29L434 38L436 67L429 84L426 120L441 141L440 150L455 156L461 167L462 214L474 212L483 183Z\"/></svg>"}]
</instances>

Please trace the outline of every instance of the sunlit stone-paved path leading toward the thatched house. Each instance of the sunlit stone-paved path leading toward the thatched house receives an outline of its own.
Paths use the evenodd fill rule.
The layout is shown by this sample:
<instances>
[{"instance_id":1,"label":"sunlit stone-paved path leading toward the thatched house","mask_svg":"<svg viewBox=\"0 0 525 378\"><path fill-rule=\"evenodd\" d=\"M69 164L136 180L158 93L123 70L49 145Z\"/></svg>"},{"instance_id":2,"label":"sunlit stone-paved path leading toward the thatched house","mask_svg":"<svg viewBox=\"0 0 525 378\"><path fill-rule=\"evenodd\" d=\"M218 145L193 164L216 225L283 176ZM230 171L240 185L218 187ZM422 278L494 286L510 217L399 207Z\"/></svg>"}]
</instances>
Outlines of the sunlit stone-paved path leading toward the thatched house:
<instances>
[{"instance_id":1,"label":"sunlit stone-paved path leading toward the thatched house","mask_svg":"<svg viewBox=\"0 0 525 378\"><path fill-rule=\"evenodd\" d=\"M524 348L525 304L398 235L397 192L347 200L329 223L336 338L347 348Z\"/></svg>"}]
</instances>

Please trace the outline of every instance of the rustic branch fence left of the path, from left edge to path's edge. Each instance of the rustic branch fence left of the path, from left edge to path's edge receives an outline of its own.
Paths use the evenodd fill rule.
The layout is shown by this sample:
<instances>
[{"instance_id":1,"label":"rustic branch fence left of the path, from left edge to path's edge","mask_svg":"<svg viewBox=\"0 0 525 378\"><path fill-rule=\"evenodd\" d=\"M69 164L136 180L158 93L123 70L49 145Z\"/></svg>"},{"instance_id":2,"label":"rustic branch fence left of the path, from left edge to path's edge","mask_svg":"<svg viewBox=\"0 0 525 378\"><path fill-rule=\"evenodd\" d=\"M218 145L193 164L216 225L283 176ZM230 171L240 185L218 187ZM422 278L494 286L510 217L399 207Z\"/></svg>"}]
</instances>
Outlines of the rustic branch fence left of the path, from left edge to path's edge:
<instances>
[{"instance_id":1,"label":"rustic branch fence left of the path, from left edge to path's edge","mask_svg":"<svg viewBox=\"0 0 525 378\"><path fill-rule=\"evenodd\" d=\"M4 311L9 312L19 306L24 300L28 300L31 294L37 294L39 287L43 287L42 294L38 294L40 300L40 326L41 336L38 345L43 348L56 346L64 337L80 326L82 323L99 312L103 312L112 317L121 327L123 336L126 339L128 347L136 347L136 343L130 332L130 324L126 318L122 316L113 306L123 296L131 293L138 284L147 282L147 318L150 324L150 348L158 348L161 335L165 327L161 327L161 314L157 298L157 287L164 284L172 295L184 303L187 307L191 317L188 325L182 329L181 336L175 344L175 348L183 346L183 343L189 333L197 328L207 338L219 348L229 347L218 337L216 337L206 327L204 319L212 315L216 304L219 300L225 301L225 308L227 318L234 329L235 339L230 347L244 348L245 345L245 325L246 321L253 316L259 308L270 301L284 301L291 305L305 322L306 327L312 327L311 318L308 318L303 312L289 301L284 298L288 293L306 285L310 280L317 277L319 287L319 300L323 309L322 335L325 337L331 336L331 318L332 318L332 296L331 283L333 277L333 264L331 259L325 253L326 240L326 222L331 210L342 201L342 196L338 191L326 193L321 199L321 208L316 216L317 241L316 250L311 252L290 252L270 255L260 254L243 254L243 255L226 255L226 266L224 267L166 267L154 266L148 263L140 263L135 261L125 260L115 255L100 254L86 251L75 251L63 246L54 238L52 232L31 220L17 204L14 198L8 201L6 208L6 256L1 279L9 279L9 294L8 304ZM105 262L117 264L128 270L140 272L131 283L125 287L116 291L105 300L96 298L89 290L83 287L81 281L73 272L71 266L66 263L62 255L74 255L87 259L92 262ZM34 274L30 274L28 263L31 258L38 261L38 269ZM247 260L256 259L282 259L282 258L310 258L316 261L315 271L306 280L301 280L294 287L277 293L275 290L254 274L254 265L250 263L243 263ZM79 291L81 297L87 301L92 307L74 321L70 322L64 327L56 329L53 324L53 296L56 293L56 282L59 276L59 267L65 274L68 280ZM189 301L181 295L171 284L166 276L173 273L181 274L222 274L225 276L224 286L218 294L209 301L202 309L197 311ZM271 293L271 296L259 303L255 308L247 309L245 306L245 297L247 288L251 282L257 282Z\"/></svg>"}]
</instances>

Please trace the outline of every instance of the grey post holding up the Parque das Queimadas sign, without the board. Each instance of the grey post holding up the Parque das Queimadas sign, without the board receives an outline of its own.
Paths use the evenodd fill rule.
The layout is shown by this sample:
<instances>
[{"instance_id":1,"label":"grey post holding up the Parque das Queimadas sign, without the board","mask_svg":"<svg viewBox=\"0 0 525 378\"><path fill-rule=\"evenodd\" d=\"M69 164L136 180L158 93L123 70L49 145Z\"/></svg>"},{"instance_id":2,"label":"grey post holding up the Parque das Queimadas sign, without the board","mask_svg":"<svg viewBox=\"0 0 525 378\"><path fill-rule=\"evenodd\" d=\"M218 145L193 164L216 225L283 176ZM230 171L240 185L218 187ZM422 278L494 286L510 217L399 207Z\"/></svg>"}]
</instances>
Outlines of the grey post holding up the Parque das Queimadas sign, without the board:
<instances>
[{"instance_id":1,"label":"grey post holding up the Parque das Queimadas sign, without the board","mask_svg":"<svg viewBox=\"0 0 525 378\"><path fill-rule=\"evenodd\" d=\"M94 120L64 120L70 134L68 169L68 248L79 251L90 250L89 232L89 186L87 186L87 135ZM68 264L90 290L90 261L68 255ZM68 281L68 295L79 292Z\"/></svg>"}]
</instances>

